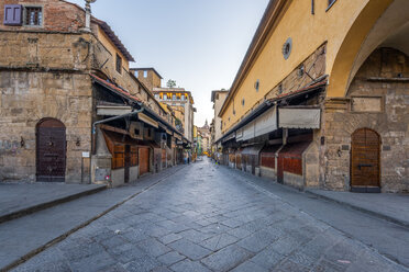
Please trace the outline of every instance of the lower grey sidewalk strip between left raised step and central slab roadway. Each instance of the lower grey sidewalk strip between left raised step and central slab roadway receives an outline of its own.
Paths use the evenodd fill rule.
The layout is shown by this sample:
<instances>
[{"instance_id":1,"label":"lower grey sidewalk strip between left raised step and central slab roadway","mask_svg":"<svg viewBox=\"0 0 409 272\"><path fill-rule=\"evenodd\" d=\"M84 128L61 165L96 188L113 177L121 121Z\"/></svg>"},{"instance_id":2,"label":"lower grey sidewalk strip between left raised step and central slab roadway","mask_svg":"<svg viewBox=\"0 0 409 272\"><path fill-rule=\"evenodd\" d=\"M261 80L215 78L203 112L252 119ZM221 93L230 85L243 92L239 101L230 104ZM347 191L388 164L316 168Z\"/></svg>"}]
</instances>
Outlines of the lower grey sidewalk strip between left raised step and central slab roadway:
<instances>
[{"instance_id":1,"label":"lower grey sidewalk strip between left raised step and central slab roadway","mask_svg":"<svg viewBox=\"0 0 409 272\"><path fill-rule=\"evenodd\" d=\"M125 186L107 189L0 224L0 271L24 262L183 168L173 167Z\"/></svg>"}]
</instances>

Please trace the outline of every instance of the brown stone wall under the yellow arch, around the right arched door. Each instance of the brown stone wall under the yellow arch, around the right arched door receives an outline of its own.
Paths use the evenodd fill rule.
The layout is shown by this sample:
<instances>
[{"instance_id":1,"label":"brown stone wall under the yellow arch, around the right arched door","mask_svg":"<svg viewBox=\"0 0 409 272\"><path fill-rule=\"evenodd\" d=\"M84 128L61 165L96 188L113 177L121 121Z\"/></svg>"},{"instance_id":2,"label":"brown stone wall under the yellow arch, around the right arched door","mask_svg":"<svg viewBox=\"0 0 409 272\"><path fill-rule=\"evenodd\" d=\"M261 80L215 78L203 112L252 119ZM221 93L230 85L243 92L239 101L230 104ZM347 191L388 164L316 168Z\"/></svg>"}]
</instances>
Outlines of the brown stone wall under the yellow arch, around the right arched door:
<instances>
[{"instance_id":1,"label":"brown stone wall under the yellow arch, around the right arched door","mask_svg":"<svg viewBox=\"0 0 409 272\"><path fill-rule=\"evenodd\" d=\"M362 66L345 99L327 100L321 156L324 188L350 190L351 135L358 128L372 128L382 138L382 191L409 192L408 78L408 56L380 48Z\"/></svg>"}]
</instances>

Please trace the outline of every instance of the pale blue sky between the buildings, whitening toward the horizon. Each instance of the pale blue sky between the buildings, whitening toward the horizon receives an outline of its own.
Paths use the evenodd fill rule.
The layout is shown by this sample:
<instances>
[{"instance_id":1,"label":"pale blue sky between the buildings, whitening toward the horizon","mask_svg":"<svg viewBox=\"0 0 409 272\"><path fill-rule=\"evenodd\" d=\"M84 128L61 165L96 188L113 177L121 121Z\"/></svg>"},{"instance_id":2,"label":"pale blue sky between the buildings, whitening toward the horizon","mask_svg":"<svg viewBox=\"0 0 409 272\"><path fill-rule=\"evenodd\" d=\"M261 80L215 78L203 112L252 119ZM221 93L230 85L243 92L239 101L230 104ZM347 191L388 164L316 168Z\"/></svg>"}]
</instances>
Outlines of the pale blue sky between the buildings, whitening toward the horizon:
<instances>
[{"instance_id":1,"label":"pale blue sky between the buildings, whitening toward the horizon","mask_svg":"<svg viewBox=\"0 0 409 272\"><path fill-rule=\"evenodd\" d=\"M84 0L69 0L81 7ZM192 92L195 125L213 117L211 91L230 89L268 0L97 0L135 63Z\"/></svg>"}]
</instances>

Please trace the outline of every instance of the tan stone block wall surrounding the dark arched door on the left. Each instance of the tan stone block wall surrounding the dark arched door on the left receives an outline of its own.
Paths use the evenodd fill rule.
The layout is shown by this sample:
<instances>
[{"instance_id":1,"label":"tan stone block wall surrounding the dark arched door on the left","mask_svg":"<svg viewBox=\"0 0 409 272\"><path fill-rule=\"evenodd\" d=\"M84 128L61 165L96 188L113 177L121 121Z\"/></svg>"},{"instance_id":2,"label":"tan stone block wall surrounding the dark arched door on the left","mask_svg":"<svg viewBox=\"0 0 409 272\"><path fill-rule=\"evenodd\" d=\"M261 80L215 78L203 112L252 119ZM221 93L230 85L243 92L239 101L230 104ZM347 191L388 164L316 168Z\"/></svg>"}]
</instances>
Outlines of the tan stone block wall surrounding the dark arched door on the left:
<instances>
[{"instance_id":1,"label":"tan stone block wall surrounding the dark arched door on the left","mask_svg":"<svg viewBox=\"0 0 409 272\"><path fill-rule=\"evenodd\" d=\"M66 126L66 181L81 182L82 151L91 149L91 103L88 75L1 71L0 180L35 180L36 124L53 117ZM85 168L88 182L89 160Z\"/></svg>"}]
</instances>

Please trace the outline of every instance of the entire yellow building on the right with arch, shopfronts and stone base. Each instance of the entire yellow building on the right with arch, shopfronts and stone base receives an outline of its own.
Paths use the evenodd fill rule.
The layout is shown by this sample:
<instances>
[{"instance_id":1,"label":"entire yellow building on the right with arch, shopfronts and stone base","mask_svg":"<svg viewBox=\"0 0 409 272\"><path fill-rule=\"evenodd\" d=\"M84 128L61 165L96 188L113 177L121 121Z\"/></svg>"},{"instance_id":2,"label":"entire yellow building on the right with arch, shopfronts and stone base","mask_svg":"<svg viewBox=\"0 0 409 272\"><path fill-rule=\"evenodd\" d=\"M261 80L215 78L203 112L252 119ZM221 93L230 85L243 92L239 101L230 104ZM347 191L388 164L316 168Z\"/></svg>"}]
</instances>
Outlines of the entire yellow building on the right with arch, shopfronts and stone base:
<instances>
[{"instance_id":1,"label":"entire yellow building on the right with arch, shopfronts and stone base","mask_svg":"<svg viewBox=\"0 0 409 272\"><path fill-rule=\"evenodd\" d=\"M279 181L299 188L409 190L402 94L408 91L408 22L405 0L270 0L219 113L224 162L244 169L250 162L243 166L243 160L251 160L253 173L277 178L280 172ZM296 107L307 115L294 115ZM317 124L302 123L313 114ZM284 124L284 118L302 124ZM277 129L266 128L273 120ZM243 137L252 122L255 135ZM306 147L288 146L302 137ZM377 148L360 146L371 137ZM242 155L248 145L254 150ZM280 150L290 149L300 152L298 162L279 158ZM368 162L365 156L378 159ZM367 173L378 182L363 181Z\"/></svg>"}]
</instances>

